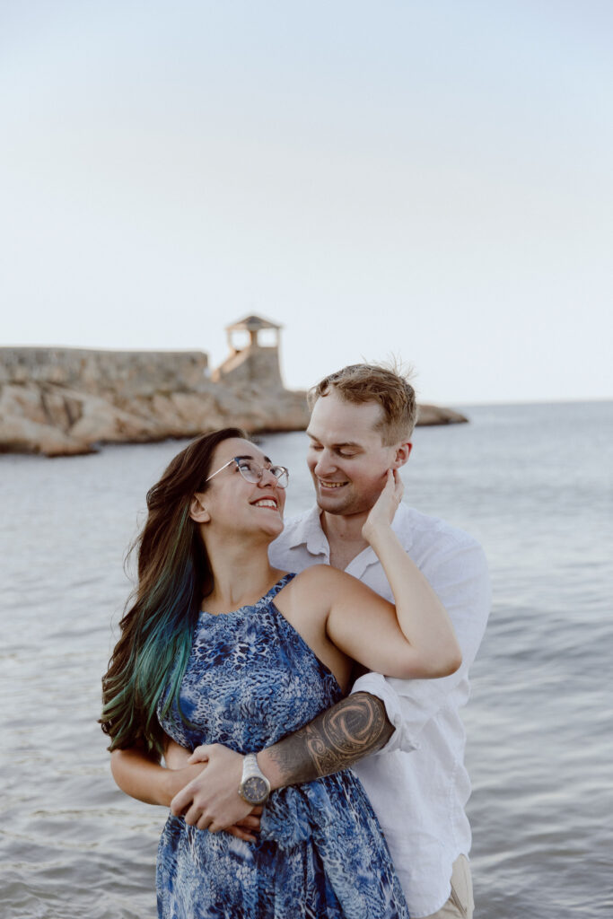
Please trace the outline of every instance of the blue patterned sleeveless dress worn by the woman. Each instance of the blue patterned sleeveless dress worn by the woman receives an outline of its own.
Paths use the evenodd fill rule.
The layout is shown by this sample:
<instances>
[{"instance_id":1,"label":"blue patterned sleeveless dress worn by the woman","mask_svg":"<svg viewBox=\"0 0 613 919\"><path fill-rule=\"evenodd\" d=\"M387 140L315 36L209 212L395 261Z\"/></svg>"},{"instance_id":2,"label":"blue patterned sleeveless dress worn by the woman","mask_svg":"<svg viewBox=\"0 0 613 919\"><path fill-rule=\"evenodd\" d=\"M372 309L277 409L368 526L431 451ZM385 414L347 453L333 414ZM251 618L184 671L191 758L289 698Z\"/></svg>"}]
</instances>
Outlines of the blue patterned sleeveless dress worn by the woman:
<instances>
[{"instance_id":1,"label":"blue patterned sleeveless dress worn by the woman","mask_svg":"<svg viewBox=\"0 0 613 919\"><path fill-rule=\"evenodd\" d=\"M201 613L181 706L163 727L178 743L255 753L343 693L274 604L286 574L252 607ZM169 816L157 859L164 919L408 919L377 818L346 770L270 795L256 843Z\"/></svg>"}]
</instances>

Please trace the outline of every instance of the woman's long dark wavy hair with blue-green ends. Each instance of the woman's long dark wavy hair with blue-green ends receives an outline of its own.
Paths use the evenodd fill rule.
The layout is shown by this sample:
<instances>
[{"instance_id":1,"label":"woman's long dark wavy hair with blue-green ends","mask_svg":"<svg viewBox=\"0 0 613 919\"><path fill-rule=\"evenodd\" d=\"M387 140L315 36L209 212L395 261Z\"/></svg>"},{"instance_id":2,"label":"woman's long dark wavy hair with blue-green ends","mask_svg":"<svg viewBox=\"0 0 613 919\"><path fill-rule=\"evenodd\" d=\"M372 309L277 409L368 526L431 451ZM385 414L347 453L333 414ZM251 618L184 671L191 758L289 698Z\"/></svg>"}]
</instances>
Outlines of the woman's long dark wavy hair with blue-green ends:
<instances>
[{"instance_id":1,"label":"woman's long dark wavy hair with blue-green ends","mask_svg":"<svg viewBox=\"0 0 613 919\"><path fill-rule=\"evenodd\" d=\"M102 730L109 750L140 744L159 758L164 732L157 718L176 703L200 604L212 590L212 573L198 524L189 516L196 492L205 492L215 448L229 437L224 427L198 437L171 461L147 493L148 515L138 547L138 585L121 619L121 637L102 679Z\"/></svg>"}]
</instances>

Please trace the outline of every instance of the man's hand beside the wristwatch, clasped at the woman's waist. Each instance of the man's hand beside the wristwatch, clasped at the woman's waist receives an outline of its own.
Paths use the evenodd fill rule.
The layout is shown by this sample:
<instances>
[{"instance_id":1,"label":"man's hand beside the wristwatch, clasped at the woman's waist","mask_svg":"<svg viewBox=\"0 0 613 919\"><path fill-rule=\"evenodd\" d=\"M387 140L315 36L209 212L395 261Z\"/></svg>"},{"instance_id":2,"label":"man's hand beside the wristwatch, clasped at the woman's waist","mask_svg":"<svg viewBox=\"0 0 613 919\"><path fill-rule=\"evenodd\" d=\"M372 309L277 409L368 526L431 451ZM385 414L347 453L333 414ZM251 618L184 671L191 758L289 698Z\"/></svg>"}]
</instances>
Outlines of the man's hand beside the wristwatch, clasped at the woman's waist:
<instances>
[{"instance_id":1,"label":"man's hand beside the wristwatch, clasped at the woman's waist","mask_svg":"<svg viewBox=\"0 0 613 919\"><path fill-rule=\"evenodd\" d=\"M239 839L255 842L253 831L259 829L262 809L247 804L238 793L243 760L241 754L221 743L197 747L189 763L205 764L205 768L175 795L171 811L177 817L183 815L186 823L199 830L227 830Z\"/></svg>"}]
</instances>

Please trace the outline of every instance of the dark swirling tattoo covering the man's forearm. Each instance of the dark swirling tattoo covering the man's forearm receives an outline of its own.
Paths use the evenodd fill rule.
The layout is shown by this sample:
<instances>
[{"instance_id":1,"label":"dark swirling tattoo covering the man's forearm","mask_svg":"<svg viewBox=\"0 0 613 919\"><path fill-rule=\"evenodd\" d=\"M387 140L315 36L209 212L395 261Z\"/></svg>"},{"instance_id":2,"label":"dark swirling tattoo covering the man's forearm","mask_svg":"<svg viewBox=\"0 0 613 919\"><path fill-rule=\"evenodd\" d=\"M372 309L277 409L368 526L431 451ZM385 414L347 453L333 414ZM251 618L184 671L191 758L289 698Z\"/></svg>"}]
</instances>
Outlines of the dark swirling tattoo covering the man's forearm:
<instances>
[{"instance_id":1,"label":"dark swirling tattoo covering the man's forearm","mask_svg":"<svg viewBox=\"0 0 613 919\"><path fill-rule=\"evenodd\" d=\"M380 750L393 731L380 698L358 692L268 747L268 754L280 769L283 784L296 785L352 766Z\"/></svg>"}]
</instances>

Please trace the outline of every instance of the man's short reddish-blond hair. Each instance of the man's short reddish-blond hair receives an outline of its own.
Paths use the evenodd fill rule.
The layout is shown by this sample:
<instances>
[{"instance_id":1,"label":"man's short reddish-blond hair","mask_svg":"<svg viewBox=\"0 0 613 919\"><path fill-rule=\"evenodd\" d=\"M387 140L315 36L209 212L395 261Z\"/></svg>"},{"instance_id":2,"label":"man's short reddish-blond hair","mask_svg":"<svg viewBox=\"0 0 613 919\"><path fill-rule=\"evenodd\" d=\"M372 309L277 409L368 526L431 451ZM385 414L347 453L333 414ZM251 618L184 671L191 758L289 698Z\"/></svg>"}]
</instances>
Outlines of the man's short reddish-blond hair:
<instances>
[{"instance_id":1,"label":"man's short reddish-blond hair","mask_svg":"<svg viewBox=\"0 0 613 919\"><path fill-rule=\"evenodd\" d=\"M350 364L330 373L309 390L309 407L332 389L348 403L379 403L382 415L377 429L386 446L411 437L417 416L411 383L393 369L378 364Z\"/></svg>"}]
</instances>

